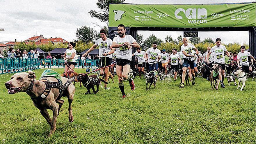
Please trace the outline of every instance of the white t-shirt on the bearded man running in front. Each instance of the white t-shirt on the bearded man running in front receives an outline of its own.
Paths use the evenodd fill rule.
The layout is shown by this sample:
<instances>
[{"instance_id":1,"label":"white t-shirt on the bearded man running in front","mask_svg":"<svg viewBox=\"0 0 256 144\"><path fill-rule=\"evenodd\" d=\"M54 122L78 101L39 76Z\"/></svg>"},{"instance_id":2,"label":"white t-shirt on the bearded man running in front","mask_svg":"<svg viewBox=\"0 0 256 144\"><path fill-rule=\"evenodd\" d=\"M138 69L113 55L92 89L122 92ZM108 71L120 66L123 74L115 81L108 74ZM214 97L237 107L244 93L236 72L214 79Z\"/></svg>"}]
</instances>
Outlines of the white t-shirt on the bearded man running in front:
<instances>
[{"instance_id":1,"label":"white t-shirt on the bearded man running in front","mask_svg":"<svg viewBox=\"0 0 256 144\"><path fill-rule=\"evenodd\" d=\"M113 39L113 42L117 44L123 44L125 42L133 43L136 40L131 35L125 35L124 38L120 38L120 36L116 36ZM126 46L116 48L116 58L127 59L131 61L132 49L128 49Z\"/></svg>"}]
</instances>

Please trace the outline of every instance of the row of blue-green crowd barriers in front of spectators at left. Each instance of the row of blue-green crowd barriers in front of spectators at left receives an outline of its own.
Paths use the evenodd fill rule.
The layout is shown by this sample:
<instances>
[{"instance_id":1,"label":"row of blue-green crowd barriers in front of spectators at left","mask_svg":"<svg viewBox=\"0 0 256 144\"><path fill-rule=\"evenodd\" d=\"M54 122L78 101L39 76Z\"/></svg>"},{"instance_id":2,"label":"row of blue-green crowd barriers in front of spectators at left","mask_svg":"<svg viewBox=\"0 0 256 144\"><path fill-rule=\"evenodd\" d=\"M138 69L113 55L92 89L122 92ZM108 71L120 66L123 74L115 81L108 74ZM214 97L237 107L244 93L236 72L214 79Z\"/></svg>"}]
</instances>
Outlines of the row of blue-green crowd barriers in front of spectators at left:
<instances>
[{"instance_id":1,"label":"row of blue-green crowd barriers in front of spectators at left","mask_svg":"<svg viewBox=\"0 0 256 144\"><path fill-rule=\"evenodd\" d=\"M98 66L99 60L76 60L75 67L90 68L92 66ZM25 72L28 70L39 69L42 67L51 68L52 66L65 67L65 61L63 59L39 59L39 58L0 58L0 74Z\"/></svg>"}]
</instances>

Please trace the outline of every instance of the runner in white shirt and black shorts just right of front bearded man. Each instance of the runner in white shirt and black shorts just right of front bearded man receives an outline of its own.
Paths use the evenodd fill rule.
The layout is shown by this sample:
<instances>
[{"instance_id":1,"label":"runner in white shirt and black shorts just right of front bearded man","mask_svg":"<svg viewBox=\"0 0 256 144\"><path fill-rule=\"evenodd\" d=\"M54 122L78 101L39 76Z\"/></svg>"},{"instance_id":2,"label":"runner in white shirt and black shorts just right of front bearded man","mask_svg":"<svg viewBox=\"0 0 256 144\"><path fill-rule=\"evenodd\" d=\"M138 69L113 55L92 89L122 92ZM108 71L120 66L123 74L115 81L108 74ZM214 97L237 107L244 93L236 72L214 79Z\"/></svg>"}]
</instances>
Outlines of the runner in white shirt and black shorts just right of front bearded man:
<instances>
[{"instance_id":1,"label":"runner in white shirt and black shorts just right of front bearded man","mask_svg":"<svg viewBox=\"0 0 256 144\"><path fill-rule=\"evenodd\" d=\"M136 52L133 53L132 56L136 56L138 59L139 77L141 79L141 72L144 74L144 68L146 66L146 53L145 51L141 51L140 47L137 47Z\"/></svg>"}]
</instances>

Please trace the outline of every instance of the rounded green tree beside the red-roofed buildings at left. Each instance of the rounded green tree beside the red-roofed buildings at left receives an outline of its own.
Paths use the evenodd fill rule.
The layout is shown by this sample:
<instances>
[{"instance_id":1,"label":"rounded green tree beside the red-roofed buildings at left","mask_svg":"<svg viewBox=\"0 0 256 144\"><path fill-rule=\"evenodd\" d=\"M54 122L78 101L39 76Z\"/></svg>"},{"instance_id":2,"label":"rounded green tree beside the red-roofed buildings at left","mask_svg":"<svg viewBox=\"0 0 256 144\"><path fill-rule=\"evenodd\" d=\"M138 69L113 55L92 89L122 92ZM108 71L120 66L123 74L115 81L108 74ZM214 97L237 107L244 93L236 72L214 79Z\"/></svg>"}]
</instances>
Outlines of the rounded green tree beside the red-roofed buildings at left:
<instances>
[{"instance_id":1,"label":"rounded green tree beside the red-roofed buildings at left","mask_svg":"<svg viewBox=\"0 0 256 144\"><path fill-rule=\"evenodd\" d=\"M97 32L93 28L82 26L77 29L76 35L78 40L89 43L95 41L95 37L97 37Z\"/></svg>"}]
</instances>

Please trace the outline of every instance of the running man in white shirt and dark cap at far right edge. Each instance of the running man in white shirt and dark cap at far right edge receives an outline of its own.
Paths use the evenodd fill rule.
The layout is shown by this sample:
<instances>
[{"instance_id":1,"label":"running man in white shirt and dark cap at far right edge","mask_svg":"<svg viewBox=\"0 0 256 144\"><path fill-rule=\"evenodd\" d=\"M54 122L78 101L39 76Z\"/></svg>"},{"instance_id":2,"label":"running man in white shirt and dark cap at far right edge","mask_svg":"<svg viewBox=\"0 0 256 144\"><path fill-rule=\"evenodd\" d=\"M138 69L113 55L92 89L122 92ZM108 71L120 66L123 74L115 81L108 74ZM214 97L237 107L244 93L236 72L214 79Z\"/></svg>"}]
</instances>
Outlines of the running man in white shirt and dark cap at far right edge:
<instances>
[{"instance_id":1,"label":"running man in white shirt and dark cap at far right edge","mask_svg":"<svg viewBox=\"0 0 256 144\"><path fill-rule=\"evenodd\" d=\"M248 56L250 56L253 61L255 61L255 58L248 52L248 51L245 51L245 46L241 46L240 47L241 49L241 52L239 52L237 54L237 64L238 64L238 67L240 67L240 65L242 65L242 71L243 72L246 72L246 73L249 73L250 70L249 70L249 61L248 61Z\"/></svg>"}]
</instances>

